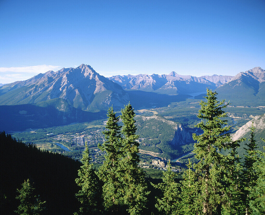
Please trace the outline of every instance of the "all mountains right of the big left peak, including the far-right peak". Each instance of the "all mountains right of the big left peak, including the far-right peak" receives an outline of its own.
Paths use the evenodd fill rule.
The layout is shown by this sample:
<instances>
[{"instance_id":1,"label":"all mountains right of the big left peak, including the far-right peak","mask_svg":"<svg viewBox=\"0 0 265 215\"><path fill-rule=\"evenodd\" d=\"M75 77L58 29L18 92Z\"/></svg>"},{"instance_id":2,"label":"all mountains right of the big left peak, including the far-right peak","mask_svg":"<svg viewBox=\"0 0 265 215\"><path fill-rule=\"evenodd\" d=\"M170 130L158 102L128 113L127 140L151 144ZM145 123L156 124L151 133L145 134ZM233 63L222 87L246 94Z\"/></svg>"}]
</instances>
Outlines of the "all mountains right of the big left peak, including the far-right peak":
<instances>
[{"instance_id":1,"label":"all mountains right of the big left peak, including the far-right peak","mask_svg":"<svg viewBox=\"0 0 265 215\"><path fill-rule=\"evenodd\" d=\"M236 76L201 76L179 75L171 72L166 75L139 74L112 76L109 80L119 84L125 90L141 90L168 95L194 94L205 92L206 87L216 90L218 97L229 100L265 100L265 71L254 67Z\"/></svg>"}]
</instances>

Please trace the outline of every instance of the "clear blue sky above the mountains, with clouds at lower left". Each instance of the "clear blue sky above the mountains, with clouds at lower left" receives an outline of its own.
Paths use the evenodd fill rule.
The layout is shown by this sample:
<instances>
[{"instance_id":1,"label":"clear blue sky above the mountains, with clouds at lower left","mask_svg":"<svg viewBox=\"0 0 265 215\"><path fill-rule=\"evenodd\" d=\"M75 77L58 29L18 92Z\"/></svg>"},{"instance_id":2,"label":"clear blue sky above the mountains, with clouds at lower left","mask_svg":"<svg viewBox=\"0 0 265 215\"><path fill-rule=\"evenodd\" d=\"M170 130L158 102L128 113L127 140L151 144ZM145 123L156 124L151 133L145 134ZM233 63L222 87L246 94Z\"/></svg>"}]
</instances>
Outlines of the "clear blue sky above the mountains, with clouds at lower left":
<instances>
[{"instance_id":1,"label":"clear blue sky above the mountains, with clouds at lower left","mask_svg":"<svg viewBox=\"0 0 265 215\"><path fill-rule=\"evenodd\" d=\"M265 1L0 0L0 83L89 64L116 74L265 69Z\"/></svg>"}]
</instances>

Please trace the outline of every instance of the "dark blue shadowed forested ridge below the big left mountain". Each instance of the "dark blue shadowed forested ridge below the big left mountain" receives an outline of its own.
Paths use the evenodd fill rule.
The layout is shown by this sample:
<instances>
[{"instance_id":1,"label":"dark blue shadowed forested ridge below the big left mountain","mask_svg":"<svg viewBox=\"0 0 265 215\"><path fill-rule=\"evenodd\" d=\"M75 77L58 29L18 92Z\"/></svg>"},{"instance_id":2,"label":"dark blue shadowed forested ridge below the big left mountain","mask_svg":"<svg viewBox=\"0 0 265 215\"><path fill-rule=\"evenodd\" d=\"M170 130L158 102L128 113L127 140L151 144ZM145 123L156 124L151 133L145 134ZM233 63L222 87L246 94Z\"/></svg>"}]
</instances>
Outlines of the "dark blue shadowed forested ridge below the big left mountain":
<instances>
[{"instance_id":1,"label":"dark blue shadowed forested ridge below the big left mountain","mask_svg":"<svg viewBox=\"0 0 265 215\"><path fill-rule=\"evenodd\" d=\"M92 113L71 106L65 99L50 99L34 104L0 105L0 130L21 131L102 119L105 111Z\"/></svg>"}]
</instances>

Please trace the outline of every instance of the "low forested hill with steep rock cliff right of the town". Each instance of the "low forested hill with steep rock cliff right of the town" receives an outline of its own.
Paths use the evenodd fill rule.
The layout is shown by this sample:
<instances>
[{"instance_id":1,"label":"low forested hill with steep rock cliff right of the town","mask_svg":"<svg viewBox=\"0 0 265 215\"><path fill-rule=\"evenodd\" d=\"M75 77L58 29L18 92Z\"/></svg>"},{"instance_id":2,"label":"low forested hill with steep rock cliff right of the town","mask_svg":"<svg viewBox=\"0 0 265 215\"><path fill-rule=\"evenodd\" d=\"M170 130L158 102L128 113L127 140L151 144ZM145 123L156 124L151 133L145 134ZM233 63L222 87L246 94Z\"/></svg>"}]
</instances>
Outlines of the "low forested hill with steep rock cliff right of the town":
<instances>
[{"instance_id":1,"label":"low forested hill with steep rock cliff right of the town","mask_svg":"<svg viewBox=\"0 0 265 215\"><path fill-rule=\"evenodd\" d=\"M196 129L184 127L160 115L138 115L135 119L140 152L154 152L157 157L172 160L193 150L192 133Z\"/></svg>"}]
</instances>

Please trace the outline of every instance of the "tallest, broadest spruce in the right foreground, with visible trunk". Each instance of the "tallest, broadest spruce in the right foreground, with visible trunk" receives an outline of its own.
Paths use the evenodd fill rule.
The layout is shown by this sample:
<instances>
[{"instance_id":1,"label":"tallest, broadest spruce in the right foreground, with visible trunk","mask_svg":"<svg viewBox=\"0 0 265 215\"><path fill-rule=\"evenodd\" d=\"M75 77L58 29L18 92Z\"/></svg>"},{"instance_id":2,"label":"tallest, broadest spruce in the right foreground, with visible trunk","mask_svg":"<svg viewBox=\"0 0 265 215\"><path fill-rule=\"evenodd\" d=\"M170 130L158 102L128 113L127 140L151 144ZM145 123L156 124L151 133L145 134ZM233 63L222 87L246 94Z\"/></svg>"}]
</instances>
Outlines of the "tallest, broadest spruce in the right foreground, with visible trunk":
<instances>
[{"instance_id":1,"label":"tallest, broadest spruce in the right foreground, with visible trunk","mask_svg":"<svg viewBox=\"0 0 265 215\"><path fill-rule=\"evenodd\" d=\"M201 128L201 135L193 134L195 157L199 160L194 165L198 174L197 187L199 188L198 203L201 205L202 214L220 214L223 197L226 195L223 184L224 175L229 167L229 156L221 153L223 150L236 148L238 142L232 142L230 126L227 125L226 113L222 110L228 104L217 101L217 92L207 89L206 100L201 101L198 118L202 119L196 125ZM236 146L235 146L236 145Z\"/></svg>"}]
</instances>

